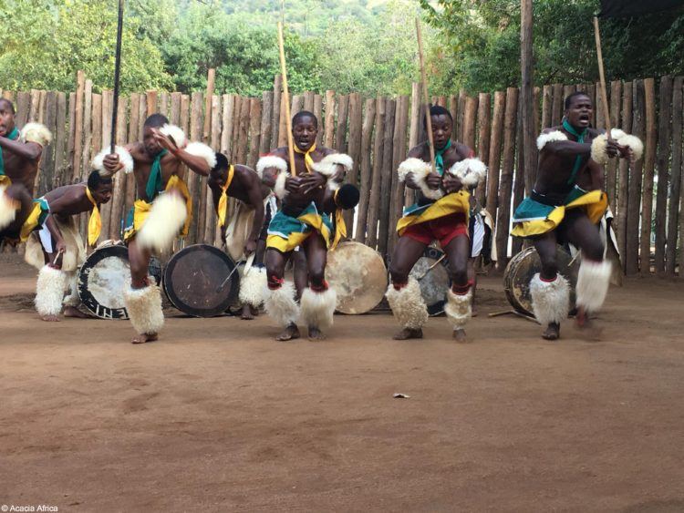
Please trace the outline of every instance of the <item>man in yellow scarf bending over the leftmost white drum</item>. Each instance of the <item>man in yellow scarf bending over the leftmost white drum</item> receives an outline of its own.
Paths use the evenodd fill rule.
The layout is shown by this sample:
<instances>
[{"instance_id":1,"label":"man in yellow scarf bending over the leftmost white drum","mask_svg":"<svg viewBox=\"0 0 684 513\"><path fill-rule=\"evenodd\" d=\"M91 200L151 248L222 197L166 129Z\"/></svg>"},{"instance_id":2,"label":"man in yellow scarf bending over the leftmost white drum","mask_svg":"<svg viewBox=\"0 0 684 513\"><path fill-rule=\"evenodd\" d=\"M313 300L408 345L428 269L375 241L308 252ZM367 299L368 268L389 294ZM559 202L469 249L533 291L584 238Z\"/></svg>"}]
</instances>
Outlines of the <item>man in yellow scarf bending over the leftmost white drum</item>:
<instances>
[{"instance_id":1,"label":"man in yellow scarf bending over the leftmost white drum","mask_svg":"<svg viewBox=\"0 0 684 513\"><path fill-rule=\"evenodd\" d=\"M59 321L62 305L65 317L88 317L76 308L79 303L77 269L85 260L86 251L74 216L91 212L88 243L94 245L101 228L99 207L109 202L112 195L111 176L101 176L100 173L96 169L88 176L88 182L57 187L40 199L47 205L47 218L26 241L25 258L26 262L40 269L36 283L36 310L43 321ZM71 293L65 298L67 286Z\"/></svg>"}]
</instances>

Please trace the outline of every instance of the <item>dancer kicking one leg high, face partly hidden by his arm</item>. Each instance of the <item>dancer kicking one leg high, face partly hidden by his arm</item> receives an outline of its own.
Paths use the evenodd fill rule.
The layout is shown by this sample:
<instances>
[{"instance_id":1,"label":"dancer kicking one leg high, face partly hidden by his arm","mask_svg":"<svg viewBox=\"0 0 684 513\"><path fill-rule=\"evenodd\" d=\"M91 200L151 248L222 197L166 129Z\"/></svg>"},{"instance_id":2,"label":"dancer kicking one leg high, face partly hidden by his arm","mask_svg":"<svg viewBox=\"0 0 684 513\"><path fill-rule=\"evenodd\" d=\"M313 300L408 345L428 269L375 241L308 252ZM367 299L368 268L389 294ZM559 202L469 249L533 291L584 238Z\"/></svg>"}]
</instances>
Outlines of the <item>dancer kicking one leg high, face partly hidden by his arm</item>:
<instances>
[{"instance_id":1,"label":"dancer kicking one leg high, face partly hidden by his arm","mask_svg":"<svg viewBox=\"0 0 684 513\"><path fill-rule=\"evenodd\" d=\"M208 176L216 165L216 156L200 142L186 145L181 128L169 125L161 114L152 114L145 120L142 142L130 143L126 149L106 155L105 168L116 172L122 152L130 153L134 162L137 198L124 231L131 279L124 302L130 323L138 332L132 343L143 344L157 340L164 324L159 287L148 281L152 251L165 249L179 233L184 237L190 227L192 199L179 174L181 165Z\"/></svg>"}]
</instances>

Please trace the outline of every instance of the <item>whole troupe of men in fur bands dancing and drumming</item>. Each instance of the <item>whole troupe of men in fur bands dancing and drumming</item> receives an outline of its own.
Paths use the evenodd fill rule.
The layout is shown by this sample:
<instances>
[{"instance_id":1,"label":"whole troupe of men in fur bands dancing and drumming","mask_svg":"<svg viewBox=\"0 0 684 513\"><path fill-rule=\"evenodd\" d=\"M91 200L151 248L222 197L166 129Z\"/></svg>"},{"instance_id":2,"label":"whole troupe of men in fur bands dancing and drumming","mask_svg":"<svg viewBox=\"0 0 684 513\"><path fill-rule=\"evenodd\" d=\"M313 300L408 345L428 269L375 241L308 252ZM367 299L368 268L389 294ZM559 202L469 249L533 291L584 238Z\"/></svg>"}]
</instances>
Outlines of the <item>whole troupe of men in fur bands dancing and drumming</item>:
<instances>
[{"instance_id":1,"label":"whole troupe of men in fur bands dancing and drumming","mask_svg":"<svg viewBox=\"0 0 684 513\"><path fill-rule=\"evenodd\" d=\"M592 128L592 111L592 100L583 92L565 98L562 124L544 128L537 139L534 189L513 215L513 236L530 239L541 258L542 271L534 275L530 291L534 315L548 340L560 336L560 323L569 310L570 290L558 272L556 243L572 243L581 251L576 320L586 328L605 301L611 272L597 229L607 209L603 166L609 158L638 159L643 149L639 139L621 130L614 129L607 137ZM421 142L409 150L397 171L399 180L415 190L416 200L397 224L399 241L389 259L387 299L400 325L394 338L421 338L428 309L409 272L426 247L438 242L448 257L451 280L444 311L453 337L463 341L472 317L471 191L484 180L487 169L471 148L451 139L449 110L431 107L430 121L434 160L430 142ZM358 188L345 182L352 159L317 146L317 134L316 116L297 113L292 119L294 160L288 159L287 147L273 149L250 169L230 163L201 142L188 141L181 128L153 114L144 122L141 142L117 147L114 153L104 149L92 160L86 182L34 199L39 159L51 135L36 123L19 130L13 104L0 99L0 242L26 242L26 260L40 268L36 310L44 320L55 321L62 311L82 316L76 308L75 279L86 251L74 218L89 212L88 245L96 244L99 209L112 197L113 180L121 180L120 171L132 172L136 200L122 233L131 274L124 300L136 332L132 342L157 340L164 323L161 291L148 269L155 251L188 232L192 199L181 178L186 166L208 178L222 235L231 221L228 198L234 198L251 220L238 251L245 256L264 251L264 266L251 267L241 280L243 317L251 318L263 304L282 328L276 340L298 338L298 323L306 326L310 339L322 339L337 304L336 292L326 282L327 251L334 251L346 236L341 213L356 206ZM299 287L285 280L290 260L295 261Z\"/></svg>"}]
</instances>

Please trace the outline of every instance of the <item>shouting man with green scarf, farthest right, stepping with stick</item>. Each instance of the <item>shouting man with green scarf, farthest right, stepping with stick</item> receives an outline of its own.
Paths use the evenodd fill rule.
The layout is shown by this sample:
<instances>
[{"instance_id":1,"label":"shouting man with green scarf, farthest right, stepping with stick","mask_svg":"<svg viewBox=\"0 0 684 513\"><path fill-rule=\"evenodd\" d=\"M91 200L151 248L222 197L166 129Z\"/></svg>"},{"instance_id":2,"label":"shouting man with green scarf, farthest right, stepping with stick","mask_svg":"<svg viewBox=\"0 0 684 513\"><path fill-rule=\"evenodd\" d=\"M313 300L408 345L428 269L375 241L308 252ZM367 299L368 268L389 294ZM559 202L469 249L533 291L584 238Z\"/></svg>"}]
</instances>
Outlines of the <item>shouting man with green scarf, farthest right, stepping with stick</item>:
<instances>
[{"instance_id":1,"label":"shouting man with green scarf, farthest right, stepping with stick","mask_svg":"<svg viewBox=\"0 0 684 513\"><path fill-rule=\"evenodd\" d=\"M560 323L569 310L569 286L556 263L557 241L570 242L582 251L576 288L578 326L586 327L588 314L595 313L606 299L610 263L603 259L596 228L607 208L602 164L608 157L633 159L640 145L621 130L613 132L614 139L607 139L589 128L592 111L586 93L578 91L565 98L563 124L545 128L537 139L539 170L534 189L513 214L512 235L530 238L541 259L542 272L534 274L530 293L546 340L560 336Z\"/></svg>"}]
</instances>

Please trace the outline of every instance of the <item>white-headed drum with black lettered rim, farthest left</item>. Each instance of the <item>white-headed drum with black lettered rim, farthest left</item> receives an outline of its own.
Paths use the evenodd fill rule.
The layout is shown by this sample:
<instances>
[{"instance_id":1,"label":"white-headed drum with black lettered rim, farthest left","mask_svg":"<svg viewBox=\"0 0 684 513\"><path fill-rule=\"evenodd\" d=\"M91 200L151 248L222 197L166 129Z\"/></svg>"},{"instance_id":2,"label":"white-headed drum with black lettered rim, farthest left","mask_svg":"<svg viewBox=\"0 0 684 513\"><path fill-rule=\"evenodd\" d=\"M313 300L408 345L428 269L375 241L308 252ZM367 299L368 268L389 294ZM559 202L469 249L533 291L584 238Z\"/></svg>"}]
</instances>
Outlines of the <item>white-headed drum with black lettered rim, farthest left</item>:
<instances>
[{"instance_id":1,"label":"white-headed drum with black lettered rim, farthest left","mask_svg":"<svg viewBox=\"0 0 684 513\"><path fill-rule=\"evenodd\" d=\"M161 281L161 265L150 259L150 276ZM100 319L128 319L123 292L130 287L129 250L122 244L100 246L78 272L78 297Z\"/></svg>"}]
</instances>

